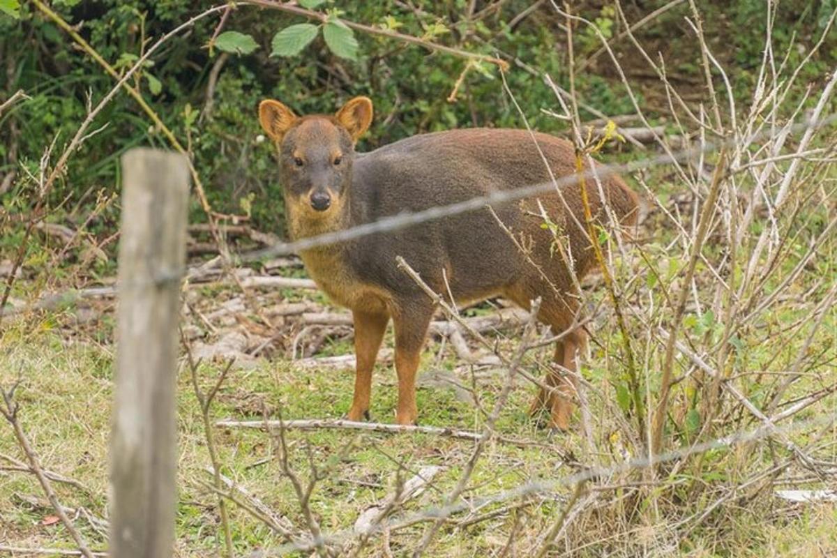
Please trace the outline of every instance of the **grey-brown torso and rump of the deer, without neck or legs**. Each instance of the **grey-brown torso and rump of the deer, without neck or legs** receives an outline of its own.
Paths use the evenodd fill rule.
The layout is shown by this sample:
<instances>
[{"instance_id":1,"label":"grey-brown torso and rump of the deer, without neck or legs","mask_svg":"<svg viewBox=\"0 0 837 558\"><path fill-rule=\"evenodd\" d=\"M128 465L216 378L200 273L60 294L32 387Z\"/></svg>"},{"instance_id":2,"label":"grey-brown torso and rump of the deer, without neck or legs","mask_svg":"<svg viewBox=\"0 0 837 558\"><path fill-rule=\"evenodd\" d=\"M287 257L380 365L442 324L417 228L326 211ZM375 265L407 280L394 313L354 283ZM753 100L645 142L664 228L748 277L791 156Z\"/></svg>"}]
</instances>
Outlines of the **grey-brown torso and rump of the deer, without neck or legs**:
<instances>
[{"instance_id":1,"label":"grey-brown torso and rump of the deer, without neck or legs","mask_svg":"<svg viewBox=\"0 0 837 558\"><path fill-rule=\"evenodd\" d=\"M357 156L352 224L548 182L547 163L555 177L572 174L573 146L552 136L520 130L478 128L413 136ZM588 182L593 212L597 212L601 205L598 188ZM634 211L634 194L619 178L604 180L603 187L619 218ZM562 196L570 212L583 223L578 186L563 187ZM570 271L553 258L556 228L551 231L542 226L541 207L573 253L573 273L584 274L592 262L588 243L573 219L567 219L567 209L554 193L500 205L493 213L483 208L395 233L372 235L349 248L347 256L360 279L388 290L414 288L395 268L397 255L435 289L446 288L446 280L457 299L496 294L521 274L531 273L531 260L544 266L558 286L567 289ZM517 244L530 248L528 257Z\"/></svg>"}]
</instances>

